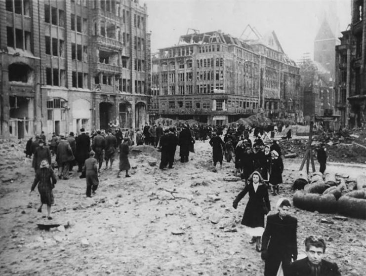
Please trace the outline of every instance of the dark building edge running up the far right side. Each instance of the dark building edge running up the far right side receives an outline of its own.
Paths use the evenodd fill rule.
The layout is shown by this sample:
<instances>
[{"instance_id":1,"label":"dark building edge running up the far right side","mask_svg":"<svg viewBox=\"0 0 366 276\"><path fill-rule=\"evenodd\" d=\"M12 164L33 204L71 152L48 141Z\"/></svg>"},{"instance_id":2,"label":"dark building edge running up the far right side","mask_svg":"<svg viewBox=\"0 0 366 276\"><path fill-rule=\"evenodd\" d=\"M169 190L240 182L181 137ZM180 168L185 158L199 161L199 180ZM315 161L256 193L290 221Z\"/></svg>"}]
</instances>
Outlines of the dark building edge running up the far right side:
<instances>
[{"instance_id":1,"label":"dark building edge running up the far right side","mask_svg":"<svg viewBox=\"0 0 366 276\"><path fill-rule=\"evenodd\" d=\"M352 0L352 21L336 46L336 108L341 126L366 125L366 0Z\"/></svg>"}]
</instances>

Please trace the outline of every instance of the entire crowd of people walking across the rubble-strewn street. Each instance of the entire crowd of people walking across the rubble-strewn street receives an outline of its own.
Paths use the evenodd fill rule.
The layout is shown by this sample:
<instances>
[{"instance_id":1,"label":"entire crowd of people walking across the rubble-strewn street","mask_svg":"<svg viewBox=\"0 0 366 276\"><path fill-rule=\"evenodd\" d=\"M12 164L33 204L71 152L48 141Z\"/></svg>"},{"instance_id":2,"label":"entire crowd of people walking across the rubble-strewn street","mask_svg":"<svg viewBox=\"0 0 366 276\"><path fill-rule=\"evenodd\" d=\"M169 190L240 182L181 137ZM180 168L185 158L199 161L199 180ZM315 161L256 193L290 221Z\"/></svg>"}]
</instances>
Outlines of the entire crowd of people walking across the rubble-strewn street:
<instances>
[{"instance_id":1,"label":"entire crowd of people walking across the rubble-strewn street","mask_svg":"<svg viewBox=\"0 0 366 276\"><path fill-rule=\"evenodd\" d=\"M223 139L222 139L223 137ZM30 138L26 145L26 156L32 158L35 179L31 192L38 185L41 195L41 206L47 205L47 217L52 219L51 205L54 203L52 189L57 177L67 180L70 170L78 166L80 178L86 181L86 197L96 193L99 176L105 162L104 170L111 170L115 157L119 155L119 172L125 171L125 177L130 177L128 154L130 147L150 145L161 152L160 169L173 168L176 147L179 146L180 162L188 162L190 152L194 152L196 140L209 141L212 147L213 165L220 167L225 157L227 162L234 161L236 174L245 182L244 189L233 201L233 207L238 207L246 194L249 200L246 204L242 225L245 232L252 238L249 243L255 243L255 249L261 252L265 260L265 276L277 276L281 271L284 276L339 276L336 264L323 260L325 241L322 238L310 236L305 240L307 257L297 260L297 219L289 215L290 200L281 198L277 203L278 213L267 216L271 210L268 190L272 195L279 193L284 164L279 144L273 140L265 144L266 137L263 128L240 125L239 127L223 126L194 126L181 124L178 126L162 127L161 123L148 124L136 132L131 128L122 133L120 128L108 129L106 132L97 130L90 135L83 128L77 136L70 132L68 136L53 134L49 141L42 132L35 140ZM48 142L48 143L47 143ZM325 147L318 151L319 159L325 169ZM58 167L57 177L53 170L52 157Z\"/></svg>"}]
</instances>

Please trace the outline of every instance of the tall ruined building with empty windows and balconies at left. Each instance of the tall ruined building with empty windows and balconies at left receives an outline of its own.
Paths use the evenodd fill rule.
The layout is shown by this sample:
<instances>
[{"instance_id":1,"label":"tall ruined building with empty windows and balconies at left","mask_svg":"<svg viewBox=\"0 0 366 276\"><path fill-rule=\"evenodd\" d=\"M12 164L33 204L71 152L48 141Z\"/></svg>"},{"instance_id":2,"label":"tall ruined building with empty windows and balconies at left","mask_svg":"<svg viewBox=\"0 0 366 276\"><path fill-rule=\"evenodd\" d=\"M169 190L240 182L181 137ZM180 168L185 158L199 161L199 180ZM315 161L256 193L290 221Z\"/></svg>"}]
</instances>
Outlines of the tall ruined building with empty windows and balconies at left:
<instances>
[{"instance_id":1,"label":"tall ruined building with empty windows and balconies at left","mask_svg":"<svg viewBox=\"0 0 366 276\"><path fill-rule=\"evenodd\" d=\"M0 134L142 126L146 28L138 0L0 1Z\"/></svg>"}]
</instances>

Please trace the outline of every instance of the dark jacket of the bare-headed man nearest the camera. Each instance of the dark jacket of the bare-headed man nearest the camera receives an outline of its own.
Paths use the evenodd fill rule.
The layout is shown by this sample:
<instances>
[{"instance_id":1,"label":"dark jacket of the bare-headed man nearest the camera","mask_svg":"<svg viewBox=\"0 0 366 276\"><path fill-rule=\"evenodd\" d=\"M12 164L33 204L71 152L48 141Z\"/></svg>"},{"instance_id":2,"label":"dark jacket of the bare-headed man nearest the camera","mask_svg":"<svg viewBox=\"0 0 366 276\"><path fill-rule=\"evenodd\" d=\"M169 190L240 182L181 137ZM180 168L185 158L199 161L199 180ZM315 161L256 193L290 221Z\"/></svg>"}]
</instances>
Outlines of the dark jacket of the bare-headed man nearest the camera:
<instances>
[{"instance_id":1,"label":"dark jacket of the bare-headed man nearest the camera","mask_svg":"<svg viewBox=\"0 0 366 276\"><path fill-rule=\"evenodd\" d=\"M308 257L293 262L289 267L289 275L291 276L313 276L308 264ZM320 276L341 276L336 263L322 260L320 268Z\"/></svg>"}]
</instances>

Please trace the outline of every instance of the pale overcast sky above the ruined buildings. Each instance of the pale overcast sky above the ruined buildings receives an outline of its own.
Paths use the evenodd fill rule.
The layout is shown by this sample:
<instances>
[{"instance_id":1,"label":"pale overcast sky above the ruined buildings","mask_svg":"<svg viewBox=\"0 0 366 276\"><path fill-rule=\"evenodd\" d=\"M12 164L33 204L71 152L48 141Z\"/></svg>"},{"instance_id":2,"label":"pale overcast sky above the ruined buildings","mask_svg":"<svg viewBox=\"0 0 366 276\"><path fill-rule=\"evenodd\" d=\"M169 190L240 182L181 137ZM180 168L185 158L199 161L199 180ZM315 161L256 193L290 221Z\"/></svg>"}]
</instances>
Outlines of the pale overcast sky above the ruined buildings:
<instances>
[{"instance_id":1,"label":"pale overcast sky above the ruined buildings","mask_svg":"<svg viewBox=\"0 0 366 276\"><path fill-rule=\"evenodd\" d=\"M285 53L313 58L314 39L326 17L340 37L351 21L351 0L140 0L148 7L151 51L178 43L188 28L222 30L240 38L250 24L260 34L275 31Z\"/></svg>"}]
</instances>

